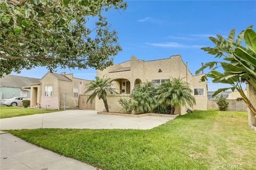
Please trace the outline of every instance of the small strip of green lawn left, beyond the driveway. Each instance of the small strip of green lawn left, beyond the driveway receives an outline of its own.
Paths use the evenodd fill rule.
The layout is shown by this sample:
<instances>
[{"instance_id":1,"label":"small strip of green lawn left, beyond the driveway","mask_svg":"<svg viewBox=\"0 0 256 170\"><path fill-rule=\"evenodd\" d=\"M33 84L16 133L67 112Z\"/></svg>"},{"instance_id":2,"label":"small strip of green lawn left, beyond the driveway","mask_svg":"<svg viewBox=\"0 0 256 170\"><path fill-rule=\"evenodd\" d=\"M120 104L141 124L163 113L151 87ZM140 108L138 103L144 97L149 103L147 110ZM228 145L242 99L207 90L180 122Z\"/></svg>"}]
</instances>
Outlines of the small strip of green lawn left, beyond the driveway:
<instances>
[{"instance_id":1,"label":"small strip of green lawn left, beyond the driveway","mask_svg":"<svg viewBox=\"0 0 256 170\"><path fill-rule=\"evenodd\" d=\"M58 110L0 106L0 118L26 116L50 112L58 112Z\"/></svg>"}]
</instances>

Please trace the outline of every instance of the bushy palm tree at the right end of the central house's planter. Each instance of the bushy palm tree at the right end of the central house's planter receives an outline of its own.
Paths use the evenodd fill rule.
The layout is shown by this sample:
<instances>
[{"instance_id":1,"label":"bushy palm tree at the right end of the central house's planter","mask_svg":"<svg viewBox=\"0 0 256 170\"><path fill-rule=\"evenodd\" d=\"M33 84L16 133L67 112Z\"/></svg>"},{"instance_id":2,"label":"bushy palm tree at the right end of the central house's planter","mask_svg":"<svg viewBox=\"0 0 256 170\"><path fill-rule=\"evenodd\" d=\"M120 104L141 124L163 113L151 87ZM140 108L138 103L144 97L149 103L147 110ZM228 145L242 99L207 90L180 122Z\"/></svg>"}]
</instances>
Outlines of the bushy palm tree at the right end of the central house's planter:
<instances>
[{"instance_id":1,"label":"bushy palm tree at the right end of the central house's planter","mask_svg":"<svg viewBox=\"0 0 256 170\"><path fill-rule=\"evenodd\" d=\"M171 81L162 83L157 89L159 105L171 107L170 114L174 114L175 106L180 107L188 104L190 107L196 104L189 83L182 79L173 78Z\"/></svg>"}]
</instances>

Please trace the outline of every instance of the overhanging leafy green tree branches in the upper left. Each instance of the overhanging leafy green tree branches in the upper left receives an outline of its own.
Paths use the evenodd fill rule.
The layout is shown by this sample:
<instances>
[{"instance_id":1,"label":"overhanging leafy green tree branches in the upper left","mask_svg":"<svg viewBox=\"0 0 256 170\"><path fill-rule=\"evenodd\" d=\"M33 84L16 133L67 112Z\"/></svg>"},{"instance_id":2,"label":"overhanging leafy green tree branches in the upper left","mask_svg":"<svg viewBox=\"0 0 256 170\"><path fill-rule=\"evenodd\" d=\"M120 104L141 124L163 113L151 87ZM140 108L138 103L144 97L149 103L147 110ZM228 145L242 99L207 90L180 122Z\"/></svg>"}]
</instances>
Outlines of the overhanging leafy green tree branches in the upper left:
<instances>
[{"instance_id":1,"label":"overhanging leafy green tree branches in the upper left","mask_svg":"<svg viewBox=\"0 0 256 170\"><path fill-rule=\"evenodd\" d=\"M125 9L122 0L1 0L0 7L0 76L35 66L102 70L121 50L102 12Z\"/></svg>"}]
</instances>

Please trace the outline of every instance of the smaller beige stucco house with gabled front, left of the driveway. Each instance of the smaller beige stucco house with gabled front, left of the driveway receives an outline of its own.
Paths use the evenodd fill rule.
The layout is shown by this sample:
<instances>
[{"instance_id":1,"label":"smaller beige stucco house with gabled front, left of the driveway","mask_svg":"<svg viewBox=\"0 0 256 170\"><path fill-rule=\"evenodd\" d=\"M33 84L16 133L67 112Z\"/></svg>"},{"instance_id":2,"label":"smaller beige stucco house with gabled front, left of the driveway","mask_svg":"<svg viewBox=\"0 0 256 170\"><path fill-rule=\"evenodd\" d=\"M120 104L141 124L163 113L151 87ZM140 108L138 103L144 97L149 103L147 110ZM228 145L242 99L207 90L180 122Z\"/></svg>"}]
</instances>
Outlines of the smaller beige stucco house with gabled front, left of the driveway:
<instances>
[{"instance_id":1,"label":"smaller beige stucco house with gabled front, left of the driveway","mask_svg":"<svg viewBox=\"0 0 256 170\"><path fill-rule=\"evenodd\" d=\"M46 109L77 109L89 80L74 78L73 74L48 72L38 83L30 84L30 107ZM87 96L84 96L87 99ZM85 98L83 104L87 105ZM90 104L94 109L94 104Z\"/></svg>"}]
</instances>

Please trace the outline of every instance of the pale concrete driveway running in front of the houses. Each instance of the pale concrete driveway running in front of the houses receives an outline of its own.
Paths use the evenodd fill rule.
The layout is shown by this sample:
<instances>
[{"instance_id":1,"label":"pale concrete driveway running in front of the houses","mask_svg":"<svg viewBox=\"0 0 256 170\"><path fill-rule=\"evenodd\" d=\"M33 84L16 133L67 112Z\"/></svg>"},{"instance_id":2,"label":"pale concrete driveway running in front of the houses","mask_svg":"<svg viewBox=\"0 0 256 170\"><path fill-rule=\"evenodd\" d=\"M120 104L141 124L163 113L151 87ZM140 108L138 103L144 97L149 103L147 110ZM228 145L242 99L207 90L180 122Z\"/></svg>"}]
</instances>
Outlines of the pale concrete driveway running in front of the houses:
<instances>
[{"instance_id":1,"label":"pale concrete driveway running in front of the houses","mask_svg":"<svg viewBox=\"0 0 256 170\"><path fill-rule=\"evenodd\" d=\"M174 117L125 117L100 115L96 111L69 110L47 114L2 118L0 129L152 129Z\"/></svg>"}]
</instances>

